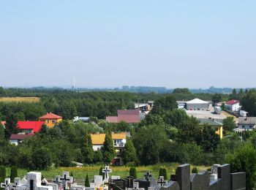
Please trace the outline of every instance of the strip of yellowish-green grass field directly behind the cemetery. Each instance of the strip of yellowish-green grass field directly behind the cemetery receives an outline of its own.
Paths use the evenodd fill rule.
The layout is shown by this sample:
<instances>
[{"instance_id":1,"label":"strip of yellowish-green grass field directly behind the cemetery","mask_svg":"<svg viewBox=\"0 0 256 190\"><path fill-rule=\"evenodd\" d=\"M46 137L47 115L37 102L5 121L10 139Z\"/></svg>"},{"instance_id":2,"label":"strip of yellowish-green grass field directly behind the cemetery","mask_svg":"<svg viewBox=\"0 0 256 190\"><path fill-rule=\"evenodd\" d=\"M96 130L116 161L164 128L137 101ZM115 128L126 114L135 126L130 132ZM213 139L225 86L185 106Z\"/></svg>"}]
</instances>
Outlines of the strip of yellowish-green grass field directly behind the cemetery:
<instances>
[{"instance_id":1,"label":"strip of yellowish-green grass field directly behind the cemetery","mask_svg":"<svg viewBox=\"0 0 256 190\"><path fill-rule=\"evenodd\" d=\"M140 166L136 167L137 170L137 176L138 178L143 178L143 175L147 170L151 171L151 174L154 175L154 178L158 178L159 175L159 168L165 167L167 170L167 176L170 180L170 174L175 174L176 167L178 164L176 163L170 163L170 164L156 164L156 165L150 165L150 166ZM99 168L101 166L87 166L87 167L59 167L59 168L53 168L50 170L43 170L42 175L47 180L51 180L55 175L61 175L63 171L68 171L69 174L72 172L75 181L78 184L83 184L84 180L86 178L86 174L89 175L89 180L94 179L94 175L99 175ZM103 166L102 166L103 167ZM190 169L192 170L194 166L191 166ZM129 176L129 168L130 167L110 167L112 169L112 172L110 175L120 175L121 178L127 178ZM207 170L209 167L206 166L197 166L198 171L200 170ZM21 170L18 169L18 177L23 178L24 175L26 175L27 170ZM10 167L7 168L7 176L10 176Z\"/></svg>"}]
</instances>

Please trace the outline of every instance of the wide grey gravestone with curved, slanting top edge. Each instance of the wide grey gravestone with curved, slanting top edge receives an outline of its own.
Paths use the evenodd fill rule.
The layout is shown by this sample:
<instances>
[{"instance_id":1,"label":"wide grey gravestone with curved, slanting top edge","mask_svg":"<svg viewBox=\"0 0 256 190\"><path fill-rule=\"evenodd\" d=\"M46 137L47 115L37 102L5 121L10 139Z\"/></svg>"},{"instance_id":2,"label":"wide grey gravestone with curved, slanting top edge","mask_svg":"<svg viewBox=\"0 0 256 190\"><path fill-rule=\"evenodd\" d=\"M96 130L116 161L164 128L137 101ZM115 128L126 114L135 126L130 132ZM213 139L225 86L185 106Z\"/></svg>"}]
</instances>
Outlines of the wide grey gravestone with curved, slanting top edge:
<instances>
[{"instance_id":1,"label":"wide grey gravestone with curved, slanting top edge","mask_svg":"<svg viewBox=\"0 0 256 190\"><path fill-rule=\"evenodd\" d=\"M209 172L202 171L197 173L192 173L190 175L190 189L197 190L197 189L209 189Z\"/></svg>"}]
</instances>

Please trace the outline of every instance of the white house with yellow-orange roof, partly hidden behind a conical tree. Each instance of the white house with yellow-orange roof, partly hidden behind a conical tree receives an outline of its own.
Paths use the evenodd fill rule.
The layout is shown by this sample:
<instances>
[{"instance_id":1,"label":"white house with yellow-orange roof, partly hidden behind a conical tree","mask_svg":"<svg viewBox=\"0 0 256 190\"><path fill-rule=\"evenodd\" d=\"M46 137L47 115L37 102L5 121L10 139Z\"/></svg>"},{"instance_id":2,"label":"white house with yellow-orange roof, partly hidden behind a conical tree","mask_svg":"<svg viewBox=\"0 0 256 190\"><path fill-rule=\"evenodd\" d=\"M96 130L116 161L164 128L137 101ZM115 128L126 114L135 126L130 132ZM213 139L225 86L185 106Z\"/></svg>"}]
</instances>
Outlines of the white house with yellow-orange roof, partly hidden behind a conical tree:
<instances>
[{"instance_id":1,"label":"white house with yellow-orange roof, partly hidden behind a conical tree","mask_svg":"<svg viewBox=\"0 0 256 190\"><path fill-rule=\"evenodd\" d=\"M91 134L92 148L94 151L100 151L105 142L105 133ZM112 133L113 145L116 148L116 156L111 161L111 164L120 165L123 164L121 159L121 153L124 150L124 145L127 142L127 138L130 137L129 132Z\"/></svg>"}]
</instances>

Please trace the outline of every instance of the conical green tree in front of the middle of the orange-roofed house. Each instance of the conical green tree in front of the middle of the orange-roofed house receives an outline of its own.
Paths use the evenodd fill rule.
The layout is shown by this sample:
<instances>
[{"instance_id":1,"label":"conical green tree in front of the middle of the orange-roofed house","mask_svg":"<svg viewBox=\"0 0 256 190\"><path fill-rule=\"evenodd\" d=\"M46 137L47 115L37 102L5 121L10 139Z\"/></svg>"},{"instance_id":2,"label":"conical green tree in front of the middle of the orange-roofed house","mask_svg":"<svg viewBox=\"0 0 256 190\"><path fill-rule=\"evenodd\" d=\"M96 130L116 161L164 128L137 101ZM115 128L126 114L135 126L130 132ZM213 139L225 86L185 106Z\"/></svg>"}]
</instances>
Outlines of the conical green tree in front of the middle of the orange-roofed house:
<instances>
[{"instance_id":1,"label":"conical green tree in front of the middle of the orange-roofed house","mask_svg":"<svg viewBox=\"0 0 256 190\"><path fill-rule=\"evenodd\" d=\"M111 137L110 132L107 132L105 135L105 141L103 144L103 161L106 164L109 164L110 161L113 160L115 155L116 155L116 150L113 144L113 139Z\"/></svg>"}]
</instances>

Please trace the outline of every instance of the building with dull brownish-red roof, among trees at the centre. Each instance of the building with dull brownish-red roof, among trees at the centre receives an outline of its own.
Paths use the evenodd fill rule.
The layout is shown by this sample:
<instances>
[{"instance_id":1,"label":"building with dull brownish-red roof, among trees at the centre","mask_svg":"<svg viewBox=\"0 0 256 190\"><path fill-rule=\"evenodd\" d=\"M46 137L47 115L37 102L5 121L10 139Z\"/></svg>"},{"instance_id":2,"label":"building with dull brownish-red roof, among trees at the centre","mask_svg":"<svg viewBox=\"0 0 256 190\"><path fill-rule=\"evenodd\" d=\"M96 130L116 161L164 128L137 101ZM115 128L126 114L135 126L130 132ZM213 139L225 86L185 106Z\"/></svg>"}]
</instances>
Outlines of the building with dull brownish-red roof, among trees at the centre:
<instances>
[{"instance_id":1,"label":"building with dull brownish-red roof, among trees at the centre","mask_svg":"<svg viewBox=\"0 0 256 190\"><path fill-rule=\"evenodd\" d=\"M139 123L140 119L143 118L140 115L140 110L117 110L117 116L106 117L108 123L120 123L124 121L126 123Z\"/></svg>"}]
</instances>

